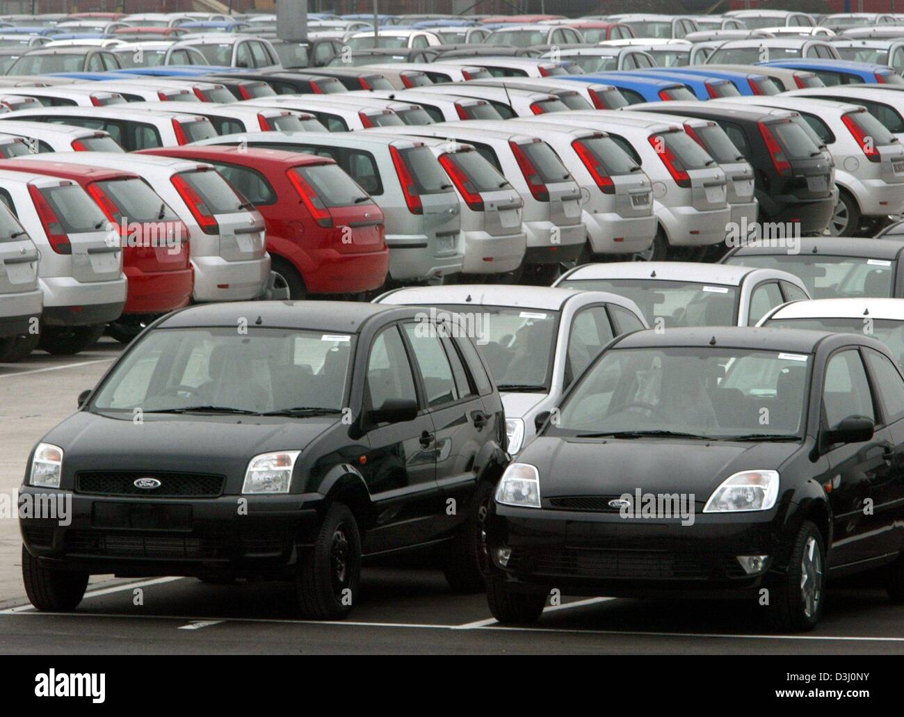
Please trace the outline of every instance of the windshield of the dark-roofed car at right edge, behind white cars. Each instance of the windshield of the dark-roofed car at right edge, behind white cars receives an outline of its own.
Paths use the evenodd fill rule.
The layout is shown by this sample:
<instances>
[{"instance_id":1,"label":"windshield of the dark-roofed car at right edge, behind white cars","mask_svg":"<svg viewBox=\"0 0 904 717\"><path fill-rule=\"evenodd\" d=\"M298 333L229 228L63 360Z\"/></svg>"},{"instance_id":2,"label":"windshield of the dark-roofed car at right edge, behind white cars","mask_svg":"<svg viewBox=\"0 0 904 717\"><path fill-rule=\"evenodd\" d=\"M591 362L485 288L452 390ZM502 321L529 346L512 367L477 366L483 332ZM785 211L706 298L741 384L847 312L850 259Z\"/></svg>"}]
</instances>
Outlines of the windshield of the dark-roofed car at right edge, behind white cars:
<instances>
[{"instance_id":1,"label":"windshield of the dark-roofed car at right edge, behind white cars","mask_svg":"<svg viewBox=\"0 0 904 717\"><path fill-rule=\"evenodd\" d=\"M822 254L763 254L726 260L758 269L782 269L804 282L813 298L893 297L895 261Z\"/></svg>"}]
</instances>

